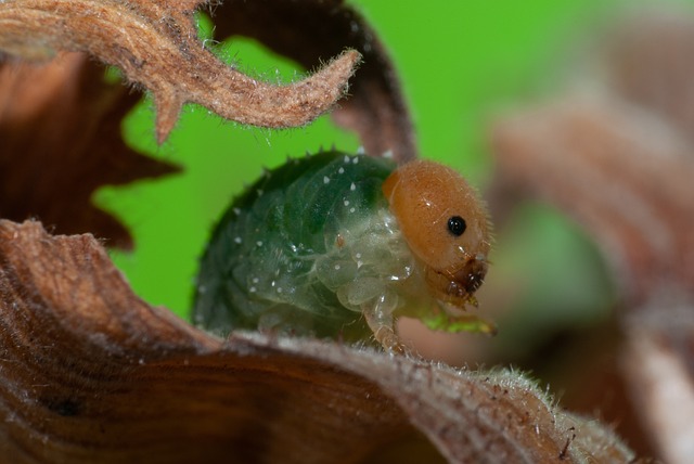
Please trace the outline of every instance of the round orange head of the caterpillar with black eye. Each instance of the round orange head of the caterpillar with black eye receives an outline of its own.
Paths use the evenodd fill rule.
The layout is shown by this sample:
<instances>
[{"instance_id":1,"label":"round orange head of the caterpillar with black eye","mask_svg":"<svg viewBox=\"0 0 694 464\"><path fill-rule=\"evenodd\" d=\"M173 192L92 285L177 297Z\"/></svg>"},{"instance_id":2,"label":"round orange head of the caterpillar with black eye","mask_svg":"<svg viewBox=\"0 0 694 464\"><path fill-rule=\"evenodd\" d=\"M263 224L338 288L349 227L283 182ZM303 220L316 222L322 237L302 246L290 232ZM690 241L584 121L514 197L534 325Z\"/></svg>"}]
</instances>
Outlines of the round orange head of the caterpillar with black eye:
<instances>
[{"instance_id":1,"label":"round orange head of the caterpillar with black eye","mask_svg":"<svg viewBox=\"0 0 694 464\"><path fill-rule=\"evenodd\" d=\"M490 227L477 192L453 169L409 163L383 183L383 193L412 253L424 263L429 292L462 308L487 273Z\"/></svg>"}]
</instances>

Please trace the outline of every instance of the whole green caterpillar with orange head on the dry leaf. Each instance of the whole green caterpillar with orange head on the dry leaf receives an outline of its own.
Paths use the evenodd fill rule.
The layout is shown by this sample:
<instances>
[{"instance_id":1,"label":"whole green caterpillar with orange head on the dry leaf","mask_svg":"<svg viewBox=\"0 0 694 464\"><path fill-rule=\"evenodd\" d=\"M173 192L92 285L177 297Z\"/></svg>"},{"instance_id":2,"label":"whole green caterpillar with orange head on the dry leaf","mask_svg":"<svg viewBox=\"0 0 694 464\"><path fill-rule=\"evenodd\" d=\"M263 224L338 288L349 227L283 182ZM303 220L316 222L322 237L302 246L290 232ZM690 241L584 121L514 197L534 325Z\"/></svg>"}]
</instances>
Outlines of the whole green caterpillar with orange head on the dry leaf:
<instances>
[{"instance_id":1,"label":"whole green caterpillar with orange head on the dry leaf","mask_svg":"<svg viewBox=\"0 0 694 464\"><path fill-rule=\"evenodd\" d=\"M201 260L196 325L407 348L399 317L429 328L493 333L477 306L490 224L453 169L323 152L288 159L237 196Z\"/></svg>"}]
</instances>

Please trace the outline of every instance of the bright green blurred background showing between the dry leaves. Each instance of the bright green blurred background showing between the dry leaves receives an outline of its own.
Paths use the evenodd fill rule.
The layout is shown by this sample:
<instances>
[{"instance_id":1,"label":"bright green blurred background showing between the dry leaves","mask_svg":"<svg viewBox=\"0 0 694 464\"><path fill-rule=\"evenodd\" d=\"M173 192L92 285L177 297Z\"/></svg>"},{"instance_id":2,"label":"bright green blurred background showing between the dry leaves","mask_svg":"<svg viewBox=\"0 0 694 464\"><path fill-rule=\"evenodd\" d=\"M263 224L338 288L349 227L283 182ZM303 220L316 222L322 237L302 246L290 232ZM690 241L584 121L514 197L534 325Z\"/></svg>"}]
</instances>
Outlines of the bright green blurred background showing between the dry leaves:
<instances>
[{"instance_id":1,"label":"bright green blurred background showing between the dry leaves","mask_svg":"<svg viewBox=\"0 0 694 464\"><path fill-rule=\"evenodd\" d=\"M491 116L550 91L563 69L570 68L577 39L591 37L614 7L604 0L350 3L391 53L422 156L453 166L483 190L493 173L486 145ZM205 37L209 21L201 15L200 24ZM243 70L268 80L291 81L304 73L244 38L231 38L218 51ZM136 149L182 165L184 173L98 192L97 203L120 217L136 239L134 252L112 255L139 295L183 318L189 314L196 261L207 235L245 183L264 166L277 166L287 155L321 146L344 151L359 146L357 138L335 128L330 117L306 128L270 131L222 121L197 106L187 107L170 139L157 146L149 100L125 120L124 133ZM499 245L505 258L498 252L496 259L505 269L502 273L511 276L527 273L528 262L539 262L532 265L537 282L527 283L520 298L535 301L526 304L529 311L552 311L553 300L542 293L549 292L550 298L556 294L560 300L569 299L576 313L588 318L600 313L612 298L609 285L595 274L600 260L577 228L537 205L526 206L514 218L511 222L516 227L504 232ZM548 289L550 278L553 283ZM586 292L584 285L597 289ZM543 298L547 302L537 302ZM553 318L560 323L562 318L570 319Z\"/></svg>"}]
</instances>

